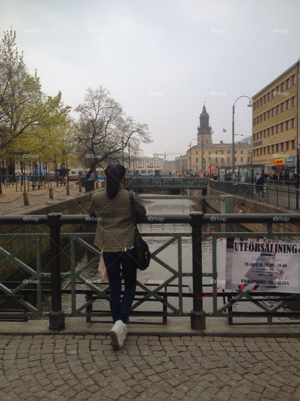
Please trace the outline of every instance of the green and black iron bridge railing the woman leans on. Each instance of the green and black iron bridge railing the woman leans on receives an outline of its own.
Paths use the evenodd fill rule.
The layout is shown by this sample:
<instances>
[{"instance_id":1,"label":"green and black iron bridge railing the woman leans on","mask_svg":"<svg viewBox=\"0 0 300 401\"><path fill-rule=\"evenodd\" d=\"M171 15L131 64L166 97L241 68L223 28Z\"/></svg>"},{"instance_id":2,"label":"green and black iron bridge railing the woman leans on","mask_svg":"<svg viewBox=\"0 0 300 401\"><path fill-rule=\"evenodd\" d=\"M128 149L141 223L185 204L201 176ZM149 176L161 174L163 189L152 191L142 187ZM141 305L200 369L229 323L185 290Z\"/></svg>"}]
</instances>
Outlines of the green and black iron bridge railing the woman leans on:
<instances>
[{"instance_id":1,"label":"green and black iron bridge railing the woman leans on","mask_svg":"<svg viewBox=\"0 0 300 401\"><path fill-rule=\"evenodd\" d=\"M292 221L294 224L300 223L300 214L281 214L281 219L285 221ZM203 229L203 225L209 224L210 227L219 223L226 222L229 224L264 224L266 230L264 233L257 232L235 232L230 227L229 232L212 232L211 228L209 233ZM272 324L272 319L276 317L286 317L299 319L300 308L293 312L282 311L284 305L288 302L299 300L299 294L289 293L276 293L272 290L272 298L270 298L271 306L266 306L268 303L268 296L265 293L254 291L227 291L223 292L217 288L218 283L218 269L217 269L217 251L216 241L217 237L266 237L266 238L284 238L296 237L298 238L300 232L273 232L273 224L278 222L278 215L262 215L262 214L206 214L192 213L190 215L156 215L155 219L151 216L139 221L139 224L146 226L149 224L163 224L163 225L184 225L188 224L191 231L176 232L172 229L165 229L160 233L142 233L145 237L162 237L166 238L166 242L158 243L157 248L152 251L152 262L161 265L170 273L170 277L164 282L154 285L144 284L138 282L141 290L138 293L138 298L132 306L132 316L162 316L165 320L167 316L190 316L191 328L194 330L204 330L206 316L211 317L226 317L228 322L232 323L234 317L249 318L250 316L264 316L268 319L268 324ZM99 299L109 298L108 283L104 287L99 287L99 283L94 283L88 274L88 268L97 263L100 259L100 251L94 248L93 245L88 243L88 237L93 238L94 233L60 233L63 225L92 225L94 221L88 215L61 215L60 213L50 213L49 215L36 215L36 216L0 216L0 225L43 225L48 226L49 233L43 227L43 232L34 234L0 234L0 268L8 261L18 267L18 270L23 274L26 273L26 279L20 281L2 281L0 282L0 320L13 320L13 319L28 319L29 317L48 317L49 327L52 330L62 330L65 326L65 316L86 316L87 319L95 316L109 316L109 311L92 310L92 304ZM168 226L167 226L168 227ZM39 231L39 230L37 230ZM184 237L191 237L190 246L191 263L189 269L182 268L182 243ZM212 263L210 266L204 267L202 262L202 244L210 238L212 247ZM11 241L18 239L18 243L22 243L17 249L11 249ZM65 253L65 245L62 240L70 240L70 264L67 266L66 271L62 272L61 269L61 255ZM42 242L48 240L50 243L50 261L47 262L50 272L45 273L45 267L42 267ZM177 267L174 267L169 262L165 262L158 253L172 243L177 242ZM22 257L17 257L20 252L26 250L31 244L36 247L36 265L28 265L22 260ZM86 263L78 265L76 261L76 249L81 245L86 251L92 253L93 258ZM209 244L205 244L207 246ZM8 250L10 249L10 251ZM64 266L65 267L65 266ZM297 268L297 267L296 267ZM149 269L151 269L151 264ZM189 271L187 271L189 270ZM184 292L183 279L184 277L192 277L191 292ZM208 282L205 280L208 279ZM44 282L43 282L44 280ZM175 282L176 284L173 284ZM171 284L172 283L172 284ZM172 291L174 287L178 288L178 292ZM171 288L171 290L170 290ZM206 290L208 289L208 291ZM28 299L29 294L34 294L34 300L30 302ZM65 312L62 306L62 297L71 297L71 311ZM85 302L78 302L78 296L85 296ZM48 298L48 305L51 305L51 310L44 311L43 298ZM185 311L183 307L183 297L192 298L192 310ZM208 298L211 297L211 298ZM224 305L220 307L218 304L218 297L222 297ZM256 297L259 297L258 299ZM278 304L274 306L274 297L278 298ZM170 302L170 298L178 298L178 306ZM227 302L225 302L227 298ZM210 307L212 310L204 312L203 300L212 300ZM149 310L140 311L136 310L143 302L156 300L163 305L162 312L150 312ZM260 308L258 312L249 311L236 311L232 306L243 301L253 302L253 304ZM247 303L245 302L245 303ZM12 308L12 304L18 304L19 309ZM20 310L20 306L22 307ZM294 322L294 321L293 321ZM286 323L290 323L287 321Z\"/></svg>"}]
</instances>

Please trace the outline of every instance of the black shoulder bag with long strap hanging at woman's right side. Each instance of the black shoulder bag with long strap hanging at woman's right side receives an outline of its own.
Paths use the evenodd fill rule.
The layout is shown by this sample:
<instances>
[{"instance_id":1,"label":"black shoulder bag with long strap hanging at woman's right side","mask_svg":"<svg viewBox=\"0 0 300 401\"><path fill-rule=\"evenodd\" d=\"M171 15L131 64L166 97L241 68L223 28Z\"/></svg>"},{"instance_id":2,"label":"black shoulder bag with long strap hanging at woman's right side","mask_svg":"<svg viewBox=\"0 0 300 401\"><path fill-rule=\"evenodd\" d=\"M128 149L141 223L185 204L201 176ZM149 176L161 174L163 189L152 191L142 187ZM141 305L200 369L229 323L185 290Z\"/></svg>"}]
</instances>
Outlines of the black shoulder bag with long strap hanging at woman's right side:
<instances>
[{"instance_id":1,"label":"black shoulder bag with long strap hanging at woman's right side","mask_svg":"<svg viewBox=\"0 0 300 401\"><path fill-rule=\"evenodd\" d=\"M138 232L137 221L136 221L136 210L134 207L134 196L133 193L129 192L130 206L132 212L132 220L134 225L134 259L136 260L136 267L140 270L146 270L150 264L151 254L149 251L148 244L142 239Z\"/></svg>"}]
</instances>

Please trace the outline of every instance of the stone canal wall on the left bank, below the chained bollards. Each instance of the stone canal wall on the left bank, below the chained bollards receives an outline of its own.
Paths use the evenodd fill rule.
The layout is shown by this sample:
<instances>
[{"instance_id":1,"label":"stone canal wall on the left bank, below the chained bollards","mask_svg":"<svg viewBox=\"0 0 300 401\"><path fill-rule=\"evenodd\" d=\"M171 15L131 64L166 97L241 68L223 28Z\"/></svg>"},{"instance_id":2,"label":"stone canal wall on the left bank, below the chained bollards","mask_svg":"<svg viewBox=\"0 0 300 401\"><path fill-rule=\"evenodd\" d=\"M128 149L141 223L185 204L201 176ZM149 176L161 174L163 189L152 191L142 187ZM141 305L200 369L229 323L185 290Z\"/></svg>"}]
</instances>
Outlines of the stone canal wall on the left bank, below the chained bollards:
<instances>
[{"instance_id":1,"label":"stone canal wall on the left bank, below the chained bollards","mask_svg":"<svg viewBox=\"0 0 300 401\"><path fill-rule=\"evenodd\" d=\"M11 213L11 215L48 215L48 213L62 213L63 215L83 215L88 213L88 207L90 205L90 199L92 194L85 194L81 196L74 196L61 201L53 201L50 205L34 206L27 208L24 211L18 211ZM25 222L24 222L25 223ZM80 225L63 225L61 227L61 233L74 233L80 229ZM0 234L47 234L49 233L49 227L47 225L0 225ZM29 238L16 238L12 237L1 238L0 246L3 247L9 253L12 253L24 245ZM40 238L41 254L46 253L50 249L49 237ZM5 256L4 256L5 257ZM16 255L17 259L20 259L26 264L33 263L36 260L36 241L30 243ZM0 257L0 261L3 261ZM20 271L15 261L8 261L7 263L0 266L0 281L5 281L8 277L12 277L14 274Z\"/></svg>"}]
</instances>

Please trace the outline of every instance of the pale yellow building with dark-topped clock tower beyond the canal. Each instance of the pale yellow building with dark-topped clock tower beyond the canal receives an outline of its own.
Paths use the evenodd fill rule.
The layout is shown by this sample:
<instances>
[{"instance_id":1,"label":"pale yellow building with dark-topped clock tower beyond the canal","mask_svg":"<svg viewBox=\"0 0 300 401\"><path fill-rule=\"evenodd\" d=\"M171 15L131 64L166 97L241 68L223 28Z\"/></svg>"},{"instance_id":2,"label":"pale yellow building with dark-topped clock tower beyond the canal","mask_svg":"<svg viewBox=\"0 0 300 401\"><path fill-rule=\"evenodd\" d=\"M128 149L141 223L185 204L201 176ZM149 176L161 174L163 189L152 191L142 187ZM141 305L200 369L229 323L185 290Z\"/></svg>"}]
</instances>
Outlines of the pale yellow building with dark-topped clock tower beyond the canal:
<instances>
[{"instance_id":1,"label":"pale yellow building with dark-topped clock tower beyond the canal","mask_svg":"<svg viewBox=\"0 0 300 401\"><path fill-rule=\"evenodd\" d=\"M232 166L232 144L220 141L218 144L212 142L212 128L209 125L209 114L205 104L200 114L198 126L198 144L192 146L187 152L187 170L207 171L215 168L228 168ZM235 144L234 162L236 168L251 162L252 146L241 142ZM203 155L203 168L202 168ZM180 161L178 162L180 166ZM182 163L183 164L183 163ZM180 168L181 171L181 168Z\"/></svg>"}]
</instances>

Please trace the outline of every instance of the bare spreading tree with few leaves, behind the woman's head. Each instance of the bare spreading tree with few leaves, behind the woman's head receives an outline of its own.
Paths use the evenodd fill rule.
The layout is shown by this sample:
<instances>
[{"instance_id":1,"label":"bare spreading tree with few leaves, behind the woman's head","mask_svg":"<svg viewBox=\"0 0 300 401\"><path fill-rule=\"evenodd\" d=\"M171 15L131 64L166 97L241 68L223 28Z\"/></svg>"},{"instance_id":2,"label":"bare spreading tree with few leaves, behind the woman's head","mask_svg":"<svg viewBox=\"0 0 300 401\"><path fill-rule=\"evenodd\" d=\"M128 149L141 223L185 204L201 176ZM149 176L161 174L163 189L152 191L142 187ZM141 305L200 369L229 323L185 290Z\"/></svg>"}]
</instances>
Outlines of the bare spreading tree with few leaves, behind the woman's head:
<instances>
[{"instance_id":1,"label":"bare spreading tree with few leaves, behind the woman's head","mask_svg":"<svg viewBox=\"0 0 300 401\"><path fill-rule=\"evenodd\" d=\"M147 124L136 123L131 116L125 116L122 106L109 96L102 86L86 89L84 103L75 111L80 114L74 123L77 132L78 152L88 163L86 179L96 166L111 162L124 162L124 150L130 146L132 156L141 153L140 142L150 143Z\"/></svg>"}]
</instances>

